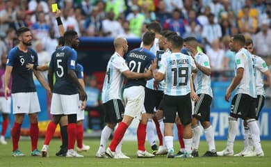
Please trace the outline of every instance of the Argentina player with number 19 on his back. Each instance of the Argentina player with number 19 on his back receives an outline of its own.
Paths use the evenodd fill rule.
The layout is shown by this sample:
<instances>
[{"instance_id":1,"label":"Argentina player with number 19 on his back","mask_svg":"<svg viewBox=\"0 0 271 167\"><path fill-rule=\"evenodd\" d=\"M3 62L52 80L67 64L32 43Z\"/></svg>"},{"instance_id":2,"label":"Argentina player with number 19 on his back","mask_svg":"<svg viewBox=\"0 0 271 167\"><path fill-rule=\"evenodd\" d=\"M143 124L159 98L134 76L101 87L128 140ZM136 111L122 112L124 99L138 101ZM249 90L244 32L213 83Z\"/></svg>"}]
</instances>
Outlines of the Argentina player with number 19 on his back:
<instances>
[{"instance_id":1,"label":"Argentina player with number 19 on his back","mask_svg":"<svg viewBox=\"0 0 271 167\"><path fill-rule=\"evenodd\" d=\"M165 78L165 95L163 97L163 114L165 116L165 145L167 146L167 158L174 158L173 148L173 123L176 112L183 123L183 141L185 152L182 157L192 157L192 130L191 130L191 100L190 77L197 70L191 56L181 54L183 39L179 35L170 38L170 56L163 59L161 68L156 70L156 61L152 63L151 70L156 81Z\"/></svg>"}]
</instances>

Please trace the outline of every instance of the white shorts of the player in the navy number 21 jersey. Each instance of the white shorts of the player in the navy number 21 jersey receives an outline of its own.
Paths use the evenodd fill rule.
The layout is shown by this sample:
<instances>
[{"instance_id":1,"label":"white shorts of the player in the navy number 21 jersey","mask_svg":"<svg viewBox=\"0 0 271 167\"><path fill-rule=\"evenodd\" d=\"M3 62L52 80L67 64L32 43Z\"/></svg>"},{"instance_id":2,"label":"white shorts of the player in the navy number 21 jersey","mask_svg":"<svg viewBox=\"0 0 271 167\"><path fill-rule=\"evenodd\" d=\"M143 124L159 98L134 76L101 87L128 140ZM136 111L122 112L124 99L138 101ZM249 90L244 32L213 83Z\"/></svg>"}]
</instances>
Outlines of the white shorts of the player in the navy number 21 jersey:
<instances>
[{"instance_id":1,"label":"white shorts of the player in the navy number 21 jersey","mask_svg":"<svg viewBox=\"0 0 271 167\"><path fill-rule=\"evenodd\" d=\"M146 113L144 107L145 88L143 86L131 86L125 88L124 93L124 116L131 116L141 120L142 113Z\"/></svg>"}]
</instances>

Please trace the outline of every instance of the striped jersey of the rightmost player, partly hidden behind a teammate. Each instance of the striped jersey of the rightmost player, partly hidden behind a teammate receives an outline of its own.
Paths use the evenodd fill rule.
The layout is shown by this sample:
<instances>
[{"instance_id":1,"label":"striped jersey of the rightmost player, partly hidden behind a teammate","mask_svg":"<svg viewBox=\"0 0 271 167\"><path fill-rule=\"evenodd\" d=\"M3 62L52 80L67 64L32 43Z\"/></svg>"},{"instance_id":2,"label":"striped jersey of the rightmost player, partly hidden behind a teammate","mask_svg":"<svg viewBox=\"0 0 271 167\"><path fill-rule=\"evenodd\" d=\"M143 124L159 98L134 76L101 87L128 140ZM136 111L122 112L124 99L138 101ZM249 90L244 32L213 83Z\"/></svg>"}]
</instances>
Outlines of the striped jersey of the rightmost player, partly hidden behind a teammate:
<instances>
[{"instance_id":1,"label":"striped jersey of the rightmost player, partly hidden behind a teammate","mask_svg":"<svg viewBox=\"0 0 271 167\"><path fill-rule=\"evenodd\" d=\"M268 65L266 65L263 58L253 55L254 67L256 68L256 93L257 95L265 96L265 89L263 88L263 72L268 71Z\"/></svg>"}]
</instances>

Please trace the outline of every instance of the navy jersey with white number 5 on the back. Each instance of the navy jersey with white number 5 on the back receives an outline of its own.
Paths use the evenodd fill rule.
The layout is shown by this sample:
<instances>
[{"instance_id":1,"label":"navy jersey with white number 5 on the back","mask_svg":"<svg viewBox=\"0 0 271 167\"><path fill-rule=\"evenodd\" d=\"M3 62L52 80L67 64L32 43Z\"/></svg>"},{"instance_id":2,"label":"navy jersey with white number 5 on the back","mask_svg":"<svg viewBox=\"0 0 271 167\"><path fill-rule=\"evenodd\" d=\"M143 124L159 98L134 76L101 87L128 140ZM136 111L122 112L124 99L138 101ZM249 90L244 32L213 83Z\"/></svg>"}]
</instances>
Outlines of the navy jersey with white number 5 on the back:
<instances>
[{"instance_id":1,"label":"navy jersey with white number 5 on the back","mask_svg":"<svg viewBox=\"0 0 271 167\"><path fill-rule=\"evenodd\" d=\"M76 70L77 54L74 49L68 46L58 48L51 56L49 68L56 74L54 93L61 95L74 95L78 93L77 86L68 76L68 70Z\"/></svg>"}]
</instances>

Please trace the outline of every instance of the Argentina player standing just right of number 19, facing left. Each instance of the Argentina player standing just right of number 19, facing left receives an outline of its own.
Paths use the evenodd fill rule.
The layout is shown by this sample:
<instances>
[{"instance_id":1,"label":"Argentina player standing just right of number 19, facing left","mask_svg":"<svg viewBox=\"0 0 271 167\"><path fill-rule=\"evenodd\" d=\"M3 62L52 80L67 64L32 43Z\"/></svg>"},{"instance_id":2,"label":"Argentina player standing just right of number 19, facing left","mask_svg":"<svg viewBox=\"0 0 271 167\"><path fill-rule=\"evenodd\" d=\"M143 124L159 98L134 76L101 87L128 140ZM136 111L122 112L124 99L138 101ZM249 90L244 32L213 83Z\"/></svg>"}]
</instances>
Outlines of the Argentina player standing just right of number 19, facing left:
<instances>
[{"instance_id":1,"label":"Argentina player standing just right of number 19, facing left","mask_svg":"<svg viewBox=\"0 0 271 167\"><path fill-rule=\"evenodd\" d=\"M192 58L197 66L197 73L193 74L193 82L195 85L196 93L199 100L195 102L195 108L192 113L192 156L199 157L199 139L200 139L200 127L199 121L204 127L204 134L208 143L208 151L204 154L204 157L216 157L215 150L215 134L210 122L210 106L213 98L213 91L211 89L211 67L208 56L197 51L197 39L195 37L188 37L184 39L184 45L190 50Z\"/></svg>"}]
</instances>

